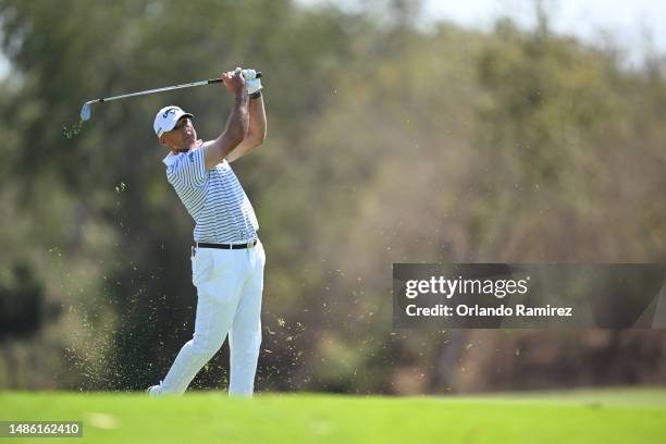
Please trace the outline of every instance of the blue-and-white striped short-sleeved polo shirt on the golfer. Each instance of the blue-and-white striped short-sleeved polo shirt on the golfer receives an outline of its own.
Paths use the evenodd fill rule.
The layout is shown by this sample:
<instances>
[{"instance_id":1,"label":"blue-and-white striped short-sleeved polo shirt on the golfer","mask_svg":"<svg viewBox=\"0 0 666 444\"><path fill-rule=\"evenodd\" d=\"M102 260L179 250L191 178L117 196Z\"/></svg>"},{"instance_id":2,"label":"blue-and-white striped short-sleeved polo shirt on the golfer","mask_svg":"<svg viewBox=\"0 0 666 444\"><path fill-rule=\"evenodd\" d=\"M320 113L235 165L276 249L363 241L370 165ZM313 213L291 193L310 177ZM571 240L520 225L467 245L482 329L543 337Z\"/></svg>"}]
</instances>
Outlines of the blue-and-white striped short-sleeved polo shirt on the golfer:
<instances>
[{"instance_id":1,"label":"blue-and-white striped short-sleeved polo shirt on the golfer","mask_svg":"<svg viewBox=\"0 0 666 444\"><path fill-rule=\"evenodd\" d=\"M259 223L240 182L224 159L206 171L203 147L171 152L163 160L166 180L195 220L196 242L240 244L257 237Z\"/></svg>"}]
</instances>

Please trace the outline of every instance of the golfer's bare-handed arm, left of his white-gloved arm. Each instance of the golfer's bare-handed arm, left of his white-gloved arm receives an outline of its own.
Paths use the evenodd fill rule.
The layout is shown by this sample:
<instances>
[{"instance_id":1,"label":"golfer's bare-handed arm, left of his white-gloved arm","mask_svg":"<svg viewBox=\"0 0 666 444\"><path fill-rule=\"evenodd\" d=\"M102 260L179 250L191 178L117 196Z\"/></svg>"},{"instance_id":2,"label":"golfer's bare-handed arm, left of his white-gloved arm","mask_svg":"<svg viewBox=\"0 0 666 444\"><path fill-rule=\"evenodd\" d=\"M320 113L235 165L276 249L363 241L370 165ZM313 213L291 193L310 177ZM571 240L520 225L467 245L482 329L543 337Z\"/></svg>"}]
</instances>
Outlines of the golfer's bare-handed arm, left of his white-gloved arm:
<instances>
[{"instance_id":1,"label":"golfer's bare-handed arm, left of his white-gloved arm","mask_svg":"<svg viewBox=\"0 0 666 444\"><path fill-rule=\"evenodd\" d=\"M245 138L249 125L248 96L245 79L237 70L222 75L224 86L234 94L234 108L226 121L224 132L205 148L206 170L210 170L229 156Z\"/></svg>"}]
</instances>

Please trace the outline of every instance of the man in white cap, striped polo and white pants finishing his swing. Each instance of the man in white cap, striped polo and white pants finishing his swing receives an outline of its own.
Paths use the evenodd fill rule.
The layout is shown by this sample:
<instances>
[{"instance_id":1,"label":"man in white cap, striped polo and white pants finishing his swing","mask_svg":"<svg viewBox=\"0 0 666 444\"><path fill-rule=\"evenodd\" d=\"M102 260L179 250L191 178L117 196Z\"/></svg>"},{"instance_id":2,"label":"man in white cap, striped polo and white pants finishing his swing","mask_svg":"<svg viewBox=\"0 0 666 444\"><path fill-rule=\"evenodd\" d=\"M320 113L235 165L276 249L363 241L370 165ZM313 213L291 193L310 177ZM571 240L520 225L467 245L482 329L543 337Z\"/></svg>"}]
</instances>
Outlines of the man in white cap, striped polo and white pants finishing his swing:
<instances>
[{"instance_id":1,"label":"man in white cap, striped polo and white pants finishing his swing","mask_svg":"<svg viewBox=\"0 0 666 444\"><path fill-rule=\"evenodd\" d=\"M197 287L194 337L178 353L151 396L181 395L212 358L229 333L230 396L250 397L261 343L261 293L266 255L259 224L230 162L261 145L266 111L261 81L254 70L222 74L234 107L214 140L197 139L194 115L162 108L155 132L169 155L166 178L195 220L192 281Z\"/></svg>"}]
</instances>

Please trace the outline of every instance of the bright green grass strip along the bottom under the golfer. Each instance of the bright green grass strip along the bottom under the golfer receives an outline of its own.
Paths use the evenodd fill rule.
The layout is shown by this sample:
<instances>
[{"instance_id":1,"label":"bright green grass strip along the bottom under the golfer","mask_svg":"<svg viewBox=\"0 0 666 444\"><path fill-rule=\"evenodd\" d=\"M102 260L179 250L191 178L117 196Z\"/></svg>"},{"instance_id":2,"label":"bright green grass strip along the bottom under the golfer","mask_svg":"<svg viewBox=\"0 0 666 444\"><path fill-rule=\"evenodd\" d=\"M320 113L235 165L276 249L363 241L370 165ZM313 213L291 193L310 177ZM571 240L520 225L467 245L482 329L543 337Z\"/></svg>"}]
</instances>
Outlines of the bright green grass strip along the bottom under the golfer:
<instances>
[{"instance_id":1,"label":"bright green grass strip along the bottom under the golfer","mask_svg":"<svg viewBox=\"0 0 666 444\"><path fill-rule=\"evenodd\" d=\"M270 394L252 400L215 392L159 399L4 392L0 419L82 420L84 437L74 443L662 443L666 388L408 398Z\"/></svg>"}]
</instances>

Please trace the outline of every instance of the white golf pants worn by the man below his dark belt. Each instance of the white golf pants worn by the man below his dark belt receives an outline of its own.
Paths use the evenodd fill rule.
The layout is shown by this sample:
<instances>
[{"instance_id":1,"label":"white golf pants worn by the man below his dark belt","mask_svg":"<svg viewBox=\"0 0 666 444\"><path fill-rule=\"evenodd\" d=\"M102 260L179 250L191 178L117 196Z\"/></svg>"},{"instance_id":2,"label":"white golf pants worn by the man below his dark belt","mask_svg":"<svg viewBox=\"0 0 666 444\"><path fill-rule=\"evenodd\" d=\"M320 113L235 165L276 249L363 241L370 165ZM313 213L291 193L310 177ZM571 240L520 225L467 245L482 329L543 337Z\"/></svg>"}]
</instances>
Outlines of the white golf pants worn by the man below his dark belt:
<instances>
[{"instance_id":1,"label":"white golf pants worn by the man below his dark belt","mask_svg":"<svg viewBox=\"0 0 666 444\"><path fill-rule=\"evenodd\" d=\"M197 248L192 257L192 281L197 287L195 332L158 393L183 394L194 377L222 347L229 333L230 396L251 396L261 345L261 293L266 254L254 248Z\"/></svg>"}]
</instances>

